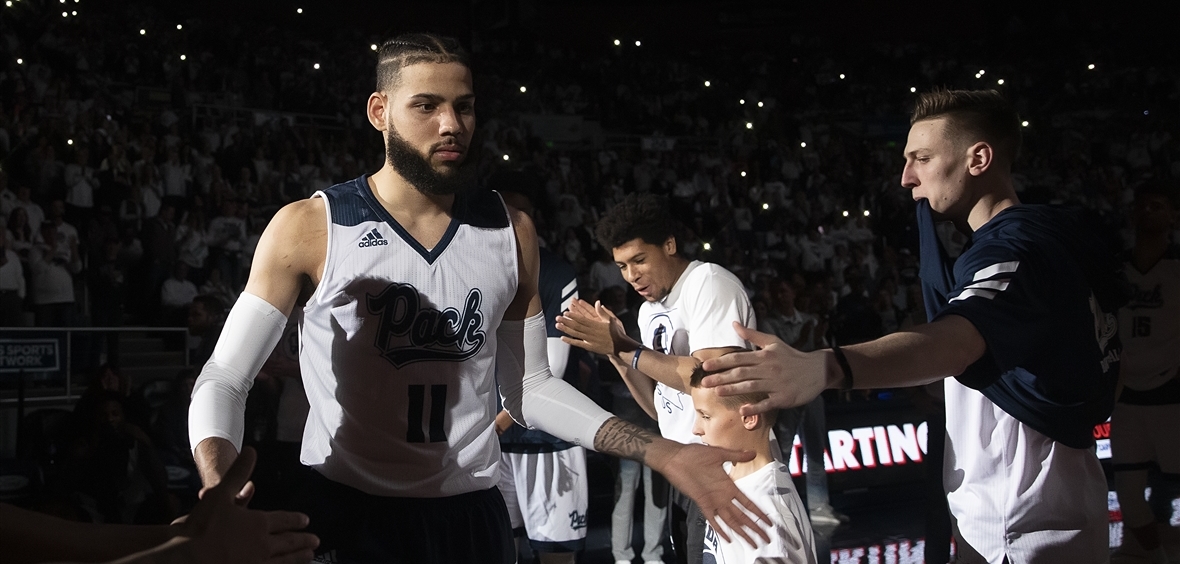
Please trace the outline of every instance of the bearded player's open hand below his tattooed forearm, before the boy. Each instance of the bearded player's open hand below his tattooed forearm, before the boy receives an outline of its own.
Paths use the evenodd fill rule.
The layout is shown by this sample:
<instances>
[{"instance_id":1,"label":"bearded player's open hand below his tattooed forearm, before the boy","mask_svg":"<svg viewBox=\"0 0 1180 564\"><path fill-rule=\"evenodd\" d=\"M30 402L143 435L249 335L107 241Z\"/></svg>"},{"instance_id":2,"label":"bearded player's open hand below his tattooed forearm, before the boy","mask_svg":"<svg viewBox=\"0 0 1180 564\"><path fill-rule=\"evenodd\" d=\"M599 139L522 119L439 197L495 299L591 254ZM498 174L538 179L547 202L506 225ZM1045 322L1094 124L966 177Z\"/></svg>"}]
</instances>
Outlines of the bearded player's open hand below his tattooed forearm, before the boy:
<instances>
[{"instance_id":1,"label":"bearded player's open hand below his tattooed forearm, before the boy","mask_svg":"<svg viewBox=\"0 0 1180 564\"><path fill-rule=\"evenodd\" d=\"M660 472L676 488L696 501L701 514L713 530L727 543L733 542L727 530L738 533L753 547L758 547L754 535L765 543L771 542L766 529L771 519L754 501L750 501L729 479L725 463L745 463L754 459L752 451L730 451L715 446L678 445L667 467ZM728 527L719 526L725 523Z\"/></svg>"}]
</instances>

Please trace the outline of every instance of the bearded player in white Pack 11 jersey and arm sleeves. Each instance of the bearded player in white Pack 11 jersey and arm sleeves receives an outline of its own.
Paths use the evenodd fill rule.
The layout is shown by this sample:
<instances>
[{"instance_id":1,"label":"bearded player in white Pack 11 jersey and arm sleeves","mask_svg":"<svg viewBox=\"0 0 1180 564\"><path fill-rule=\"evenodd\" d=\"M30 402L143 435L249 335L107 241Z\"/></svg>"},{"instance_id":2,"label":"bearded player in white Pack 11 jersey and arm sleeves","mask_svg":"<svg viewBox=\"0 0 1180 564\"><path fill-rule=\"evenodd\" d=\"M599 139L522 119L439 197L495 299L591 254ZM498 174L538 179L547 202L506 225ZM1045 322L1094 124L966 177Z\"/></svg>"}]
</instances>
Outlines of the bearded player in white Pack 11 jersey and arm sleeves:
<instances>
[{"instance_id":1,"label":"bearded player in white Pack 11 jersey and arm sleeves","mask_svg":"<svg viewBox=\"0 0 1180 564\"><path fill-rule=\"evenodd\" d=\"M300 458L315 472L302 506L326 558L516 560L494 487L497 380L522 425L642 460L712 520L766 538L739 509L756 506L721 470L753 453L661 439L549 373L532 222L470 190L474 103L453 39L407 35L379 50L366 113L385 165L284 206L258 241L194 387L190 441L204 485L237 457L245 394L303 294L310 412Z\"/></svg>"}]
</instances>

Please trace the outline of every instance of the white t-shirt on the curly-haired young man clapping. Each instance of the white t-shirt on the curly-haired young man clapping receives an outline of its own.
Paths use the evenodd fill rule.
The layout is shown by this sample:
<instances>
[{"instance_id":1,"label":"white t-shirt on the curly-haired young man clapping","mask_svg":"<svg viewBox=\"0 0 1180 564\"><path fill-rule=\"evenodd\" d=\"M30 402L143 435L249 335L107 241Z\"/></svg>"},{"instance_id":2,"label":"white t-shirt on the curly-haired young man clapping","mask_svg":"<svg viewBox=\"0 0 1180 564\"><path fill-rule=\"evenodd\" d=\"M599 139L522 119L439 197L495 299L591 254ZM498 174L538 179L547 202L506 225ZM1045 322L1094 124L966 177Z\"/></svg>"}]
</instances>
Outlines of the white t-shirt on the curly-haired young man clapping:
<instances>
[{"instance_id":1,"label":"white t-shirt on the curly-haired young man clapping","mask_svg":"<svg viewBox=\"0 0 1180 564\"><path fill-rule=\"evenodd\" d=\"M640 306L643 345L677 356L704 348L749 348L734 330L734 321L758 327L741 281L708 262L690 262L667 297ZM660 434L678 442L700 442L693 434L696 411L691 395L656 382L655 404Z\"/></svg>"}]
</instances>

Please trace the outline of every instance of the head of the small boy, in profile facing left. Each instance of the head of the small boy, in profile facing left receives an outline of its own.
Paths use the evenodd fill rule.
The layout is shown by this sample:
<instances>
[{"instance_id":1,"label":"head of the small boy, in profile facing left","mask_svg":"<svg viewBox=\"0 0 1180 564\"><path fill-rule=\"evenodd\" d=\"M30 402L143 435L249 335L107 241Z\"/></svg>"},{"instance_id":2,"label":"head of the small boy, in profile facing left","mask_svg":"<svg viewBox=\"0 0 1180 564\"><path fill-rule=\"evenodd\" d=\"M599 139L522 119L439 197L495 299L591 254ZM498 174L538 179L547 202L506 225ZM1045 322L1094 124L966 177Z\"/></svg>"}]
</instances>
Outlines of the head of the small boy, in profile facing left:
<instances>
[{"instance_id":1,"label":"head of the small boy, in profile facing left","mask_svg":"<svg viewBox=\"0 0 1180 564\"><path fill-rule=\"evenodd\" d=\"M693 406L696 407L693 434L700 437L706 445L722 448L739 451L769 448L774 412L759 415L742 415L739 412L741 406L762 401L767 395L765 393L717 395L716 391L701 387L704 376L704 370L696 367L688 382Z\"/></svg>"}]
</instances>

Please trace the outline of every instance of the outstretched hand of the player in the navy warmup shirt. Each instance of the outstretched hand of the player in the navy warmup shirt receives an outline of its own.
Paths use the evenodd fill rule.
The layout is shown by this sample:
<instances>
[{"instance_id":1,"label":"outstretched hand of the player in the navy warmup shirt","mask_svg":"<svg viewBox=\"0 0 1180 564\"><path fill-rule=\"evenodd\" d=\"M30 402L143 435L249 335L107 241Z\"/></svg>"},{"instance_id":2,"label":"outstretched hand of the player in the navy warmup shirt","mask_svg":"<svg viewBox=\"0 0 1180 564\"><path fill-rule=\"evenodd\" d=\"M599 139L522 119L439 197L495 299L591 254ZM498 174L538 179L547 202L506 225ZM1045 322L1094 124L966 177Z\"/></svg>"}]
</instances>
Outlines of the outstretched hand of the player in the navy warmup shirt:
<instances>
[{"instance_id":1,"label":"outstretched hand of the player in the navy warmup shirt","mask_svg":"<svg viewBox=\"0 0 1180 564\"><path fill-rule=\"evenodd\" d=\"M766 393L769 398L741 407L742 415L807 404L827 387L822 353L801 353L774 335L734 323L738 335L759 350L730 353L704 361L710 373L701 381L719 395ZM715 373L715 374L712 374Z\"/></svg>"}]
</instances>

